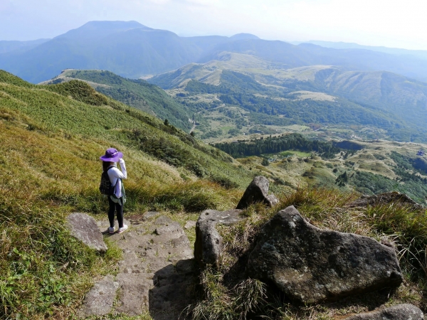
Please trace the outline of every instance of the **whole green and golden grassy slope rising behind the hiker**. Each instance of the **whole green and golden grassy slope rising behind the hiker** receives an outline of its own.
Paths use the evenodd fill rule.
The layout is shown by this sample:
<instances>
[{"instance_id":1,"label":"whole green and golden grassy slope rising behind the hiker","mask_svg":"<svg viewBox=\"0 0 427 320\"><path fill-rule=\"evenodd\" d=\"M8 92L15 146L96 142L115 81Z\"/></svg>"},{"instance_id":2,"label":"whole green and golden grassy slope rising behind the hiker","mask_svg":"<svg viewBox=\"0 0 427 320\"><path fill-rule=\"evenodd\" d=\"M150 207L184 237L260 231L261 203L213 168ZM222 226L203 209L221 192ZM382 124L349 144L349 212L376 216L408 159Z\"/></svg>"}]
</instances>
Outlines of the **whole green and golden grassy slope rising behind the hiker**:
<instances>
[{"instance_id":1,"label":"whole green and golden grassy slope rising behind the hiker","mask_svg":"<svg viewBox=\"0 0 427 320\"><path fill-rule=\"evenodd\" d=\"M179 151L177 158L190 154L206 167L210 180L227 175L240 186L251 181L250 171L221 161L229 159L222 152L186 141L188 134L97 94L83 82L41 87L0 72L0 318L64 318L80 304L94 275L112 271L118 257L114 248L95 255L64 229L70 212L104 217L98 156L110 146L127 159L127 212L230 208L236 203L241 191L201 180L191 166L159 161L142 151L133 132L167 139Z\"/></svg>"}]
</instances>

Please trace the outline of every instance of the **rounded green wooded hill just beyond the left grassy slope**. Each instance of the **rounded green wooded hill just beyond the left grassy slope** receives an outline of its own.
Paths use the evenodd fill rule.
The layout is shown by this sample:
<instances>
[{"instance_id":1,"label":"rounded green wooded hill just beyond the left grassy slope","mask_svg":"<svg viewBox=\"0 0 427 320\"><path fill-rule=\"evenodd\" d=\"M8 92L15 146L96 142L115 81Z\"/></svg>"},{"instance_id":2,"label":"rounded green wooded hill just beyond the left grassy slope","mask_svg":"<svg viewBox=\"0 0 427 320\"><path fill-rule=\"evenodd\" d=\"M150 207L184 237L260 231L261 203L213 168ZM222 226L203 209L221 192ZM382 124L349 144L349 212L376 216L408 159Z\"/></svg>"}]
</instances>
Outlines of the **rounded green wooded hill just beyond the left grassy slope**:
<instances>
[{"instance_id":1,"label":"rounded green wooded hill just beyond the left grassy slope","mask_svg":"<svg viewBox=\"0 0 427 320\"><path fill-rule=\"evenodd\" d=\"M191 129L191 112L167 95L164 90L145 80L132 80L103 70L64 70L63 73L42 84L55 84L70 80L88 82L97 92L135 107L159 119L168 121L179 129Z\"/></svg>"}]
</instances>

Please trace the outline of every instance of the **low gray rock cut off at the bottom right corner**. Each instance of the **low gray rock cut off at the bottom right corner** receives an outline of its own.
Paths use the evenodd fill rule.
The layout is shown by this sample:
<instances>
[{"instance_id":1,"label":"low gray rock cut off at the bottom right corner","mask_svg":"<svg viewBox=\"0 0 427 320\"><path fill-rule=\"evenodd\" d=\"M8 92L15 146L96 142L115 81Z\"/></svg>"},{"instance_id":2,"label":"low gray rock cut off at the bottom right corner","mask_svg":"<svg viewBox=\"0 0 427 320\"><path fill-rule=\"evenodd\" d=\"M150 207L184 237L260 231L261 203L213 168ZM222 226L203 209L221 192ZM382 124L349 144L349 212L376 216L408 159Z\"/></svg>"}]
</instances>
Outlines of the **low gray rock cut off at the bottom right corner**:
<instances>
[{"instance_id":1,"label":"low gray rock cut off at the bottom right corner","mask_svg":"<svg viewBox=\"0 0 427 320\"><path fill-rule=\"evenodd\" d=\"M346 320L423 320L423 311L412 304L396 304L384 310L357 314Z\"/></svg>"}]
</instances>

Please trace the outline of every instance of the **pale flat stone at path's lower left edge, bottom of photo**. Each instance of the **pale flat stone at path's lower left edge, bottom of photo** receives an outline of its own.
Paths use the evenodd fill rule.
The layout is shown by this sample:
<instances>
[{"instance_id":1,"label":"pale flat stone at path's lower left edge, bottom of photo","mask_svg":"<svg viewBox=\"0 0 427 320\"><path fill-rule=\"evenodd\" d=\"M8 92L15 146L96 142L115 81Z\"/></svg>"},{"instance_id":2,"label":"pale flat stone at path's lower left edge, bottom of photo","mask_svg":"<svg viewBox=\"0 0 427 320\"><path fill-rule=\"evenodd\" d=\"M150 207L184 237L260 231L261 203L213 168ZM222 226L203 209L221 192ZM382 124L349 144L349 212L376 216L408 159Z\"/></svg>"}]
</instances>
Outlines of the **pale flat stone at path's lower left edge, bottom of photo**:
<instances>
[{"instance_id":1,"label":"pale flat stone at path's lower left edge, bottom of photo","mask_svg":"<svg viewBox=\"0 0 427 320\"><path fill-rule=\"evenodd\" d=\"M95 282L93 288L86 294L83 308L79 311L80 319L109 314L118 288L119 284L114 281L112 275Z\"/></svg>"}]
</instances>

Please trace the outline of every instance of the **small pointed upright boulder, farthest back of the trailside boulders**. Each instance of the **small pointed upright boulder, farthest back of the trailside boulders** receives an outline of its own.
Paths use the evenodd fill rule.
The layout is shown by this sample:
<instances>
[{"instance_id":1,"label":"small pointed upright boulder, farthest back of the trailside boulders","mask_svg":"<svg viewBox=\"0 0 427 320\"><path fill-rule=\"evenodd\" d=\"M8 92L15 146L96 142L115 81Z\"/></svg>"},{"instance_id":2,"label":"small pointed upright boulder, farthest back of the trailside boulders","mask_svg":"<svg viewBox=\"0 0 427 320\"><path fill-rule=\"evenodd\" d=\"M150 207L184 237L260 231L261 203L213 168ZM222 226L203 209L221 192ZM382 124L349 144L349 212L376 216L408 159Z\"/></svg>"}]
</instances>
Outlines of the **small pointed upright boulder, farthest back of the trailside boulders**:
<instances>
[{"instance_id":1,"label":"small pointed upright boulder, farthest back of the trailside boulders","mask_svg":"<svg viewBox=\"0 0 427 320\"><path fill-rule=\"evenodd\" d=\"M274 195L268 195L268 187L270 182L265 176L255 176L251 184L246 188L245 193L239 201L236 209L246 209L253 203L265 203L267 206L275 206L278 204L278 198Z\"/></svg>"}]
</instances>

